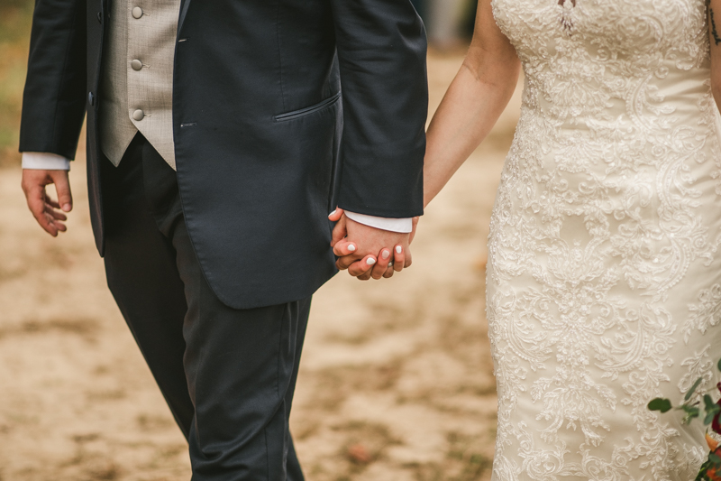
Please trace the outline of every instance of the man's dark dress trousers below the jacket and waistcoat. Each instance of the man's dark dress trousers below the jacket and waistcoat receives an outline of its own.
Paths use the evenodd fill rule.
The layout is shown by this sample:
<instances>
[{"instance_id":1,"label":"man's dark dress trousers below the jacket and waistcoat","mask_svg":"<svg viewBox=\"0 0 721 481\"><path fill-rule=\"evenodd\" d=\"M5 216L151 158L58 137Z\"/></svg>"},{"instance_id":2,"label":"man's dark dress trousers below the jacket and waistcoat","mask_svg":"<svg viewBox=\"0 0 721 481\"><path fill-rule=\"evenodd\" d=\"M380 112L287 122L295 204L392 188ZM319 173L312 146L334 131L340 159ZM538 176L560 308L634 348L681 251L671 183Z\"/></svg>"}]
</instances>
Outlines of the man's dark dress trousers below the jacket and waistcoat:
<instances>
[{"instance_id":1,"label":"man's dark dress trousers below the jacket and waistcoat","mask_svg":"<svg viewBox=\"0 0 721 481\"><path fill-rule=\"evenodd\" d=\"M137 134L105 188L105 271L187 437L193 481L302 481L288 417L310 298L248 310L205 282L175 171Z\"/></svg>"}]
</instances>

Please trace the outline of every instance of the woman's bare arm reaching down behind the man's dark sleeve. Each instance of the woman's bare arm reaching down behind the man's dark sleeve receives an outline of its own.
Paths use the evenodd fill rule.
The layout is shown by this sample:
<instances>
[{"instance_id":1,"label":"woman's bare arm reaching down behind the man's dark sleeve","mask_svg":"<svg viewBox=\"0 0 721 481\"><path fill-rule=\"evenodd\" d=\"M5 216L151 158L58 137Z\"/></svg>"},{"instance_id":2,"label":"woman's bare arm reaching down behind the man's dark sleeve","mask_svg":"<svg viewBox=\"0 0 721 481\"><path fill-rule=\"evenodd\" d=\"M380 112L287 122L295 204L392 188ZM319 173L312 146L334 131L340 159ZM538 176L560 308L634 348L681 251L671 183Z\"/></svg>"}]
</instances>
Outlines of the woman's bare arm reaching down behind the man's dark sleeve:
<instances>
[{"instance_id":1,"label":"woman's bare arm reaching down behind the man's dark sleeve","mask_svg":"<svg viewBox=\"0 0 721 481\"><path fill-rule=\"evenodd\" d=\"M516 88L519 69L516 50L498 29L490 0L479 0L470 49L428 127L424 205L496 124Z\"/></svg>"}]
</instances>

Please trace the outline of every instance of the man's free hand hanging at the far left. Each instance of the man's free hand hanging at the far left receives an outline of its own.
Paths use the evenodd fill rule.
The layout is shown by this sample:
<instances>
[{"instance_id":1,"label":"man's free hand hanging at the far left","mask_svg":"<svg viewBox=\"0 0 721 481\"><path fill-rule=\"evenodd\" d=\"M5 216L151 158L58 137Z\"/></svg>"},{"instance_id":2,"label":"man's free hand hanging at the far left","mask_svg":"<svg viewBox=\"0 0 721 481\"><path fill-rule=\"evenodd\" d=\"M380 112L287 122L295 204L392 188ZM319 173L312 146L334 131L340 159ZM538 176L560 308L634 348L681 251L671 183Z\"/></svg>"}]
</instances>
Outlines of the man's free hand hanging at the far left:
<instances>
[{"instance_id":1,"label":"man's free hand hanging at the far left","mask_svg":"<svg viewBox=\"0 0 721 481\"><path fill-rule=\"evenodd\" d=\"M57 201L51 199L45 192L45 188L50 184L55 184ZM56 237L59 232L68 230L64 224L68 217L63 213L73 208L68 171L23 169L22 187L32 216L45 232Z\"/></svg>"}]
</instances>

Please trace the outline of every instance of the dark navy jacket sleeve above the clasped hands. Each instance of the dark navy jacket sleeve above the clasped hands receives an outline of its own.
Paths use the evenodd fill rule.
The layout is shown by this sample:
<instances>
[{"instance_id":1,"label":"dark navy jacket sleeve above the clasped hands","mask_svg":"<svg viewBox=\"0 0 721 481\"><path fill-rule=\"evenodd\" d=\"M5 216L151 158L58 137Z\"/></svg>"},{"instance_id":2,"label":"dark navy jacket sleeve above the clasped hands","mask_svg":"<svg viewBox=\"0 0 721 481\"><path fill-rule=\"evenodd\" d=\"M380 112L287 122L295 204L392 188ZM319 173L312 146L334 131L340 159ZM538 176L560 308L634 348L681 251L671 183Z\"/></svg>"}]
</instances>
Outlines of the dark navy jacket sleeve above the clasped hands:
<instances>
[{"instance_id":1,"label":"dark navy jacket sleeve above the clasped hands","mask_svg":"<svg viewBox=\"0 0 721 481\"><path fill-rule=\"evenodd\" d=\"M338 205L370 216L419 216L428 115L424 24L410 0L331 5L343 105Z\"/></svg>"}]
</instances>

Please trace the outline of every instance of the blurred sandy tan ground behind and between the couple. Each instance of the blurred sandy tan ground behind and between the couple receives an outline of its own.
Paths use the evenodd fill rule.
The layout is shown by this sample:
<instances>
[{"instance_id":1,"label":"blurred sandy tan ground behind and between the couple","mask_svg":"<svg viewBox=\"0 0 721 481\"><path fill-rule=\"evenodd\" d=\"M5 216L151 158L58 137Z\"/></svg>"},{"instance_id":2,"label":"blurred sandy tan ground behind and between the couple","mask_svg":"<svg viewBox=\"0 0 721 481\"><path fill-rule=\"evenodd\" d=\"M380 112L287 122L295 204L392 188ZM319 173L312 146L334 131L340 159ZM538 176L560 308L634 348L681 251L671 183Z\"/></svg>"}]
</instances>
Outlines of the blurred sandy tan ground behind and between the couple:
<instances>
[{"instance_id":1,"label":"blurred sandy tan ground behind and between the couple","mask_svg":"<svg viewBox=\"0 0 721 481\"><path fill-rule=\"evenodd\" d=\"M461 54L429 58L431 109ZM484 317L488 218L519 108L427 209L413 267L315 296L291 419L309 481L488 479L496 391ZM105 284L82 156L67 234L0 171L0 480L175 481L187 447Z\"/></svg>"}]
</instances>

